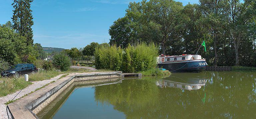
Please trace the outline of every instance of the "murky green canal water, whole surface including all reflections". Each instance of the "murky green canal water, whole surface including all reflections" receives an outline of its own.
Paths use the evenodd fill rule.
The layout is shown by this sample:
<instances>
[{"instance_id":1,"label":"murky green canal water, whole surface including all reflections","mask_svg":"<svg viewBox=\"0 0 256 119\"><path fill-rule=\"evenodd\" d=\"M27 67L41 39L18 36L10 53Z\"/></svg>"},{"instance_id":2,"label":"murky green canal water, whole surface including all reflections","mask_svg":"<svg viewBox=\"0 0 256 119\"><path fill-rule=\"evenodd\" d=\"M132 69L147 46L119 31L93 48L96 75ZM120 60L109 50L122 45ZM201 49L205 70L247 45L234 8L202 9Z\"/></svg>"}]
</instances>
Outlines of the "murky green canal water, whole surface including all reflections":
<instances>
[{"instance_id":1,"label":"murky green canal water, whole surface including all reflections","mask_svg":"<svg viewBox=\"0 0 256 119\"><path fill-rule=\"evenodd\" d=\"M256 72L237 71L74 87L39 118L255 118L255 86Z\"/></svg>"}]
</instances>

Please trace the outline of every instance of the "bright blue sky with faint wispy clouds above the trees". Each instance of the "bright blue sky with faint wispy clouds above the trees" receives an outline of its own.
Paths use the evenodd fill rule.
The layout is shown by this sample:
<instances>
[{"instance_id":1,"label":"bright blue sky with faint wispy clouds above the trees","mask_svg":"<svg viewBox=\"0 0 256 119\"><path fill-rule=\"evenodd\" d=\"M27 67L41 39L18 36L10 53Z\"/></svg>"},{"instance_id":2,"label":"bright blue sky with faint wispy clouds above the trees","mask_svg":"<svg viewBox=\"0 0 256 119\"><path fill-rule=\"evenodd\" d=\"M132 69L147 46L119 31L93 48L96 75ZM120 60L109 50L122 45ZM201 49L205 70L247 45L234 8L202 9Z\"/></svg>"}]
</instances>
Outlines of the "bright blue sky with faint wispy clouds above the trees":
<instances>
[{"instance_id":1,"label":"bright blue sky with faint wispy clouds above the trees","mask_svg":"<svg viewBox=\"0 0 256 119\"><path fill-rule=\"evenodd\" d=\"M91 42L108 43L109 27L125 15L129 2L141 0L34 0L34 43L43 47L83 48ZM183 5L198 0L176 0ZM0 24L11 21L13 0L1 0Z\"/></svg>"}]
</instances>

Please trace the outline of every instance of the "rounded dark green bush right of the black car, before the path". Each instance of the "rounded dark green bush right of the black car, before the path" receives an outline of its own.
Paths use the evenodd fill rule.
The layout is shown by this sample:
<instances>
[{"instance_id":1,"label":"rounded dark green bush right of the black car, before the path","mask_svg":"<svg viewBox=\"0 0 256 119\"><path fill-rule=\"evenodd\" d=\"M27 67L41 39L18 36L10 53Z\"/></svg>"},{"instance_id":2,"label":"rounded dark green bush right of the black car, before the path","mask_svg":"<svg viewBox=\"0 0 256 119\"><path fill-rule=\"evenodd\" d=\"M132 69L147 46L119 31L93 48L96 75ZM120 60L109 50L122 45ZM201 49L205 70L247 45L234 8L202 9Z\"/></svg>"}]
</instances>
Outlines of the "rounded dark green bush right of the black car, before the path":
<instances>
[{"instance_id":1,"label":"rounded dark green bush right of the black car, before the path","mask_svg":"<svg viewBox=\"0 0 256 119\"><path fill-rule=\"evenodd\" d=\"M71 66L70 58L63 53L55 54L53 56L52 63L57 69L60 69L61 71L66 71Z\"/></svg>"}]
</instances>

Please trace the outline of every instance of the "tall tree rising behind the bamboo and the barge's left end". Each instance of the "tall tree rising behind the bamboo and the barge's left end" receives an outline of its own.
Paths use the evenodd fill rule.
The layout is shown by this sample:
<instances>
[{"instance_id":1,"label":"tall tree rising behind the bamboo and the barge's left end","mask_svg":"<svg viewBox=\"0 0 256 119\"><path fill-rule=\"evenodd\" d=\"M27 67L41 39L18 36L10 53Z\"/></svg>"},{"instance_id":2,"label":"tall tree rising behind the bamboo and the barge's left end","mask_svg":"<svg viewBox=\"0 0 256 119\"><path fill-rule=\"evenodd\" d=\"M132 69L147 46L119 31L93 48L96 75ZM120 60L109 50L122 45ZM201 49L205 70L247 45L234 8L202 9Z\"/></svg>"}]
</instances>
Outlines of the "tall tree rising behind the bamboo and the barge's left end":
<instances>
[{"instance_id":1,"label":"tall tree rising behind the bamboo and the barge's left end","mask_svg":"<svg viewBox=\"0 0 256 119\"><path fill-rule=\"evenodd\" d=\"M166 42L175 39L181 21L182 3L173 0L150 0L146 3L146 16L158 34L156 42L160 43L165 54Z\"/></svg>"}]
</instances>

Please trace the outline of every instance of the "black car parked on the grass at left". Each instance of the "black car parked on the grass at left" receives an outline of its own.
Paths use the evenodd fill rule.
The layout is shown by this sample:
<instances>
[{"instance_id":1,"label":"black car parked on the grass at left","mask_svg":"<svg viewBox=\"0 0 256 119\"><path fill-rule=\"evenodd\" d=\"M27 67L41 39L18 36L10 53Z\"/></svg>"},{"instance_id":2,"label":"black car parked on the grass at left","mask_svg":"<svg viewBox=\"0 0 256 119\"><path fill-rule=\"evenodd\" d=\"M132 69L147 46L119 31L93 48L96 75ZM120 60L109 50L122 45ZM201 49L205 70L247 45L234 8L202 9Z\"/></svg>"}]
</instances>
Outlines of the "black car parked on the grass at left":
<instances>
[{"instance_id":1,"label":"black car parked on the grass at left","mask_svg":"<svg viewBox=\"0 0 256 119\"><path fill-rule=\"evenodd\" d=\"M34 64L31 63L20 63L11 66L6 71L2 71L1 75L4 76L15 76L19 77L19 75L35 73L37 72L37 68Z\"/></svg>"}]
</instances>

